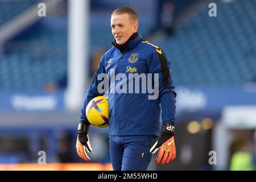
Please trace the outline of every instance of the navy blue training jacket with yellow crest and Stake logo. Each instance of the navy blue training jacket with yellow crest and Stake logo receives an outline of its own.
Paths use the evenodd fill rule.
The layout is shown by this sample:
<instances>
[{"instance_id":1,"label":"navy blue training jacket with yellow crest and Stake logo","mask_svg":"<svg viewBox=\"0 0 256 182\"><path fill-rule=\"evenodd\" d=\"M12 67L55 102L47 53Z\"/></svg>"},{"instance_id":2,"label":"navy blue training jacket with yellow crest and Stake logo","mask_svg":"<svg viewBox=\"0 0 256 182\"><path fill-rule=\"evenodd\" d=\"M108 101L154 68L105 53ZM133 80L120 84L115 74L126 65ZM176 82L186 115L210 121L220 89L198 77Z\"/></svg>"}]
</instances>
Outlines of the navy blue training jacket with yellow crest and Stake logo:
<instances>
[{"instance_id":1,"label":"navy blue training jacket with yellow crest and Stake logo","mask_svg":"<svg viewBox=\"0 0 256 182\"><path fill-rule=\"evenodd\" d=\"M81 109L81 122L88 121L85 110L89 101L94 97L104 95L104 93L98 92L97 87L100 83L102 84L102 80L99 80L98 76L101 73L106 73L109 80L108 88L105 88L105 86L102 86L102 88L109 92L109 134L159 136L160 105L162 107L163 123L174 124L175 122L176 93L172 84L170 68L171 63L167 60L167 56L162 49L144 41L141 35L130 40L122 53L116 47L110 48L102 56L92 84L87 90ZM118 73L123 74L119 74L118 77ZM158 73L159 92L156 99L148 99L148 96L153 95L153 93L143 92L142 86L139 87L139 93L135 93L134 87L138 84L142 85L142 80L145 81L142 76L137 81L130 79L133 82L131 82L132 85L129 84L129 76L136 73L141 76L143 74L147 76L147 73ZM146 77L146 80L152 81L154 78L155 75L149 78ZM111 83L114 83L114 85ZM152 88L154 86L156 88L158 85L153 83ZM120 88L123 92L117 93L117 88Z\"/></svg>"}]
</instances>

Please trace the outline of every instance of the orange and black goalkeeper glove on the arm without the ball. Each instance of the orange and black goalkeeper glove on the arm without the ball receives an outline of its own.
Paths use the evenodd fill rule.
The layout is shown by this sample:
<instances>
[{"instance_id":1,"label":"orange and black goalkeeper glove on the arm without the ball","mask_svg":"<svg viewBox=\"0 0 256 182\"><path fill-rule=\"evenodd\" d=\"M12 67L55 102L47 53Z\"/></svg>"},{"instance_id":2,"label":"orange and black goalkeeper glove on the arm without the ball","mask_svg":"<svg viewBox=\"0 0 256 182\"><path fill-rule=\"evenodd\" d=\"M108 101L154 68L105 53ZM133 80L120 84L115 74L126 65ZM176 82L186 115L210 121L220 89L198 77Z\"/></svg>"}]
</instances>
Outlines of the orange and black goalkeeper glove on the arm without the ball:
<instances>
[{"instance_id":1,"label":"orange and black goalkeeper glove on the arm without the ball","mask_svg":"<svg viewBox=\"0 0 256 182\"><path fill-rule=\"evenodd\" d=\"M151 154L155 154L159 150L158 156L156 156L156 164L169 163L170 160L176 158L176 148L174 143L174 125L171 123L164 123L163 132L160 138L151 147Z\"/></svg>"}]
</instances>

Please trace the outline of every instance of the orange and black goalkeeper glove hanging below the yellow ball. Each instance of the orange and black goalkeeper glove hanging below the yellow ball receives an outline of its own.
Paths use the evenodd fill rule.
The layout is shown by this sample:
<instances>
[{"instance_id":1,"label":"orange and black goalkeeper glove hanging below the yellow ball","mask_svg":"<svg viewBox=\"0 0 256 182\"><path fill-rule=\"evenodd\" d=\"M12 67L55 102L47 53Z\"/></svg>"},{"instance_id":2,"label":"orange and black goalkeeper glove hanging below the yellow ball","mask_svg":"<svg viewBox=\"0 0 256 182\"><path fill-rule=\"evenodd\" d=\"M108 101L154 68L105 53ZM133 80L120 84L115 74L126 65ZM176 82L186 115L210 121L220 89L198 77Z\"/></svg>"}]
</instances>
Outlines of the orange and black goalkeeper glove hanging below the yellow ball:
<instances>
[{"instance_id":1,"label":"orange and black goalkeeper glove hanging below the yellow ball","mask_svg":"<svg viewBox=\"0 0 256 182\"><path fill-rule=\"evenodd\" d=\"M76 151L80 158L90 161L87 152L92 152L92 146L90 146L90 140L88 137L90 123L89 122L81 122L78 127L78 135L76 140Z\"/></svg>"}]
</instances>

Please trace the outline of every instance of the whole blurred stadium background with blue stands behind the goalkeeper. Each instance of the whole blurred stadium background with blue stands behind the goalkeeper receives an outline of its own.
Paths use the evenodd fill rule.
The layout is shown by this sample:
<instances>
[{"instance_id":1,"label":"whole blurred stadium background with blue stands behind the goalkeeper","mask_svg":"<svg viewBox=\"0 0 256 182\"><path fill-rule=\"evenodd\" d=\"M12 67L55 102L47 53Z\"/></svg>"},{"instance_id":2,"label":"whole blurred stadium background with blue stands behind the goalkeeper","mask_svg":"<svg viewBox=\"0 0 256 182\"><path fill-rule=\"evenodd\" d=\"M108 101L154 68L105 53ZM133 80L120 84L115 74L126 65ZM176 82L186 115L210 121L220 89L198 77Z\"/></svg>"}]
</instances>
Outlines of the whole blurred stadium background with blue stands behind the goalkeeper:
<instances>
[{"instance_id":1,"label":"whole blurred stadium background with blue stands behind the goalkeeper","mask_svg":"<svg viewBox=\"0 0 256 182\"><path fill-rule=\"evenodd\" d=\"M112 170L108 128L90 127L91 163L76 137L119 6L137 11L139 34L166 52L176 86L176 160L156 165L154 155L148 169L254 170L255 0L0 0L0 169Z\"/></svg>"}]
</instances>

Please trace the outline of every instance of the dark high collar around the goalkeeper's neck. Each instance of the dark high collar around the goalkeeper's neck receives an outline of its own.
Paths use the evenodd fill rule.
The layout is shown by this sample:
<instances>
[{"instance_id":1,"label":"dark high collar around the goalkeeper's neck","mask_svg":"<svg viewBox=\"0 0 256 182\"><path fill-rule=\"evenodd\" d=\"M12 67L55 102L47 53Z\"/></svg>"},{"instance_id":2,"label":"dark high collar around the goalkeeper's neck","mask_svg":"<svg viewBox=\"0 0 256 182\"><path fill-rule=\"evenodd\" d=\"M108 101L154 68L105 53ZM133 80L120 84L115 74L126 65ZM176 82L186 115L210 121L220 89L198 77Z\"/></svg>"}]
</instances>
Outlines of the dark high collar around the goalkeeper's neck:
<instances>
[{"instance_id":1,"label":"dark high collar around the goalkeeper's neck","mask_svg":"<svg viewBox=\"0 0 256 182\"><path fill-rule=\"evenodd\" d=\"M112 44L114 45L114 47L119 49L121 53L123 53L125 49L134 48L138 42L141 42L141 40L142 40L142 36L139 35L138 32L135 32L133 35L130 36L130 38L126 41L126 43L122 45L118 45L117 42L115 42L114 40Z\"/></svg>"}]
</instances>

